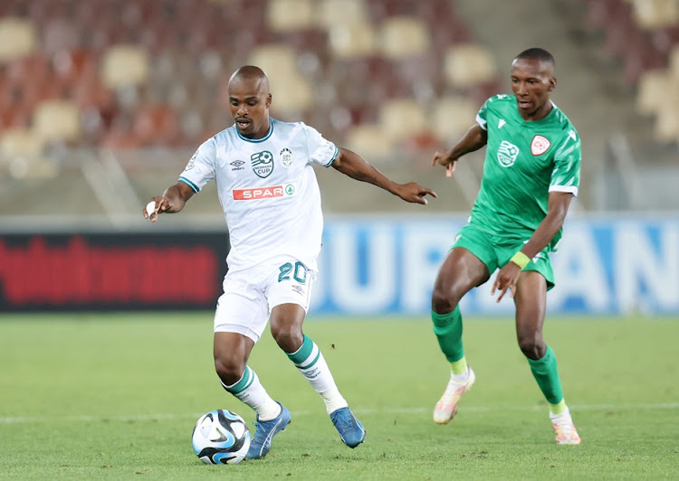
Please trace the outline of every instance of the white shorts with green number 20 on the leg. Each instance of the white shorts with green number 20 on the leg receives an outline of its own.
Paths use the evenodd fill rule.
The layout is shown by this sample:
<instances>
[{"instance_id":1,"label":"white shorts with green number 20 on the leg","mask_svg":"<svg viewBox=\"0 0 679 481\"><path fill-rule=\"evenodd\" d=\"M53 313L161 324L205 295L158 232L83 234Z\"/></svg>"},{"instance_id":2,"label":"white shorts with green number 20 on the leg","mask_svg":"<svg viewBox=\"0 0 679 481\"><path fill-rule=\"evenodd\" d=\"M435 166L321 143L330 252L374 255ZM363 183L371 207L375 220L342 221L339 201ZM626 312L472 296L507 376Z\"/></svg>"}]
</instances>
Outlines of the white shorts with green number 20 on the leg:
<instances>
[{"instance_id":1,"label":"white shorts with green number 20 on the leg","mask_svg":"<svg viewBox=\"0 0 679 481\"><path fill-rule=\"evenodd\" d=\"M314 270L292 257L269 259L249 269L227 272L217 300L215 333L238 333L255 343L273 307L298 304L309 311Z\"/></svg>"}]
</instances>

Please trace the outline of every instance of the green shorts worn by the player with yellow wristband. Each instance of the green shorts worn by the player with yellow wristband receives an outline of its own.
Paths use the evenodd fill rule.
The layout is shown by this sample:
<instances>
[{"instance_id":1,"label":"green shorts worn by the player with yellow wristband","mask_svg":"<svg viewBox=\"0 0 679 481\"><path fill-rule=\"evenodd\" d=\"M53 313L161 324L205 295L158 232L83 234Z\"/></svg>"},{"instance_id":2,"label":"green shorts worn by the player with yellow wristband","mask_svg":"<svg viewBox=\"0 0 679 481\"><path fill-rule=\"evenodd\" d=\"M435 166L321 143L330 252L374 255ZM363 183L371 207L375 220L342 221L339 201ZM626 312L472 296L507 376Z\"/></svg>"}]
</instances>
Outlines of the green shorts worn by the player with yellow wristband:
<instances>
[{"instance_id":1,"label":"green shorts worn by the player with yellow wristband","mask_svg":"<svg viewBox=\"0 0 679 481\"><path fill-rule=\"evenodd\" d=\"M493 274L495 269L502 269L512 259L512 256L521 250L527 241L528 239L520 241L503 236L495 236L487 231L483 231L475 224L468 223L457 232L453 248L464 247L464 249L469 250L485 264L488 272ZM554 287L554 270L551 269L549 247L541 250L523 270L536 270L540 272L547 281L547 290Z\"/></svg>"}]
</instances>

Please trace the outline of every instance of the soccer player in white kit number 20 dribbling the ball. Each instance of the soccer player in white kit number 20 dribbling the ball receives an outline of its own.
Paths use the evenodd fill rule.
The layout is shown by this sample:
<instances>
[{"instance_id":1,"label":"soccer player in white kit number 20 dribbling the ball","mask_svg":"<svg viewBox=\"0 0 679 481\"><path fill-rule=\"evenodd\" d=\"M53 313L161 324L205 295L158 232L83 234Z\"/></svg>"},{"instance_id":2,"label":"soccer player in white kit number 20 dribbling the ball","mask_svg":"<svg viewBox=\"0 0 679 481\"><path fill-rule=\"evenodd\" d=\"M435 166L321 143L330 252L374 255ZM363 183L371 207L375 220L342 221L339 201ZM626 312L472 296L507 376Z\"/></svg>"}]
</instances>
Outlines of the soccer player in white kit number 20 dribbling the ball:
<instances>
[{"instance_id":1,"label":"soccer player in white kit number 20 dribbling the ball","mask_svg":"<svg viewBox=\"0 0 679 481\"><path fill-rule=\"evenodd\" d=\"M312 165L332 165L409 203L426 204L426 194L436 194L416 183L390 181L363 158L302 122L271 118L269 80L258 67L235 71L228 94L234 126L198 147L179 182L153 197L155 209L144 211L144 216L156 222L160 213L181 211L194 193L215 179L231 242L224 294L215 311L215 370L224 389L256 411L246 458L266 456L273 436L291 418L247 365L267 321L276 343L325 402L339 437L356 448L366 430L339 393L318 345L301 329L323 230Z\"/></svg>"}]
</instances>

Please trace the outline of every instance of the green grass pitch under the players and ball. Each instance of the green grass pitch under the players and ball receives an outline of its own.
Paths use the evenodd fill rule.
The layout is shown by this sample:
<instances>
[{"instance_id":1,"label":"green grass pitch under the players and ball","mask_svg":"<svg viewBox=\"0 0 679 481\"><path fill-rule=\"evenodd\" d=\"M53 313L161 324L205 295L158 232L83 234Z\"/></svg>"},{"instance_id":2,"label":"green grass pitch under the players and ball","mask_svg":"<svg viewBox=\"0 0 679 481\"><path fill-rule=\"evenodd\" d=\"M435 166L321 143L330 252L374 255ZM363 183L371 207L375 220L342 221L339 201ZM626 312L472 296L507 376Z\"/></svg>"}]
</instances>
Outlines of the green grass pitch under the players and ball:
<instances>
[{"instance_id":1,"label":"green grass pitch under the players and ball","mask_svg":"<svg viewBox=\"0 0 679 481\"><path fill-rule=\"evenodd\" d=\"M305 332L366 443L341 444L267 334L250 365L292 424L264 459L212 467L191 449L198 416L225 408L253 420L217 381L212 313L0 316L0 478L679 477L679 321L548 319L576 447L554 445L511 319L465 322L477 381L447 426L431 420L448 368L426 318L311 318Z\"/></svg>"}]
</instances>

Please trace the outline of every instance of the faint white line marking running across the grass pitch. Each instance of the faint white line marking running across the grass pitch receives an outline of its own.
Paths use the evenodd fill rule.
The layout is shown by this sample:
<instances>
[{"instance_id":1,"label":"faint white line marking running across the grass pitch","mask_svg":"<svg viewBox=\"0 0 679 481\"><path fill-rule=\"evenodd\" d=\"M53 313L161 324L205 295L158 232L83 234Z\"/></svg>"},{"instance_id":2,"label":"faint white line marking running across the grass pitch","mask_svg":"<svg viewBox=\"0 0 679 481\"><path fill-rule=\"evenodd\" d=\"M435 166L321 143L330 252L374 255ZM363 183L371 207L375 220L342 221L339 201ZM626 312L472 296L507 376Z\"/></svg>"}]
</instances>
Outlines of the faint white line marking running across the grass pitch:
<instances>
[{"instance_id":1,"label":"faint white line marking running across the grass pitch","mask_svg":"<svg viewBox=\"0 0 679 481\"><path fill-rule=\"evenodd\" d=\"M546 406L523 406L515 408L498 408L498 407L483 407L483 406L466 406L464 407L464 412L493 412L499 410L514 410L514 411L533 411L533 410L546 410ZM569 405L570 410L676 410L679 409L679 402L662 402L662 403L643 403L643 404L572 404ZM378 409L378 408L358 408L354 409L354 412L359 414L374 414L376 412L388 413L388 414L418 414L429 412L431 408L391 408L391 409ZM295 416L307 416L312 412L309 410L293 410L292 414ZM130 421L130 420L179 420L179 419L192 419L196 420L204 413L194 412L194 413L184 413L184 414L172 414L172 413L158 413L158 414L132 414L124 416L93 416L93 415L81 415L81 416L18 416L18 417L5 417L0 418L0 424L13 424L13 423L23 423L23 422L45 422L48 420L66 420L66 421L82 421L82 422L98 422L102 420L107 421Z\"/></svg>"}]
</instances>

